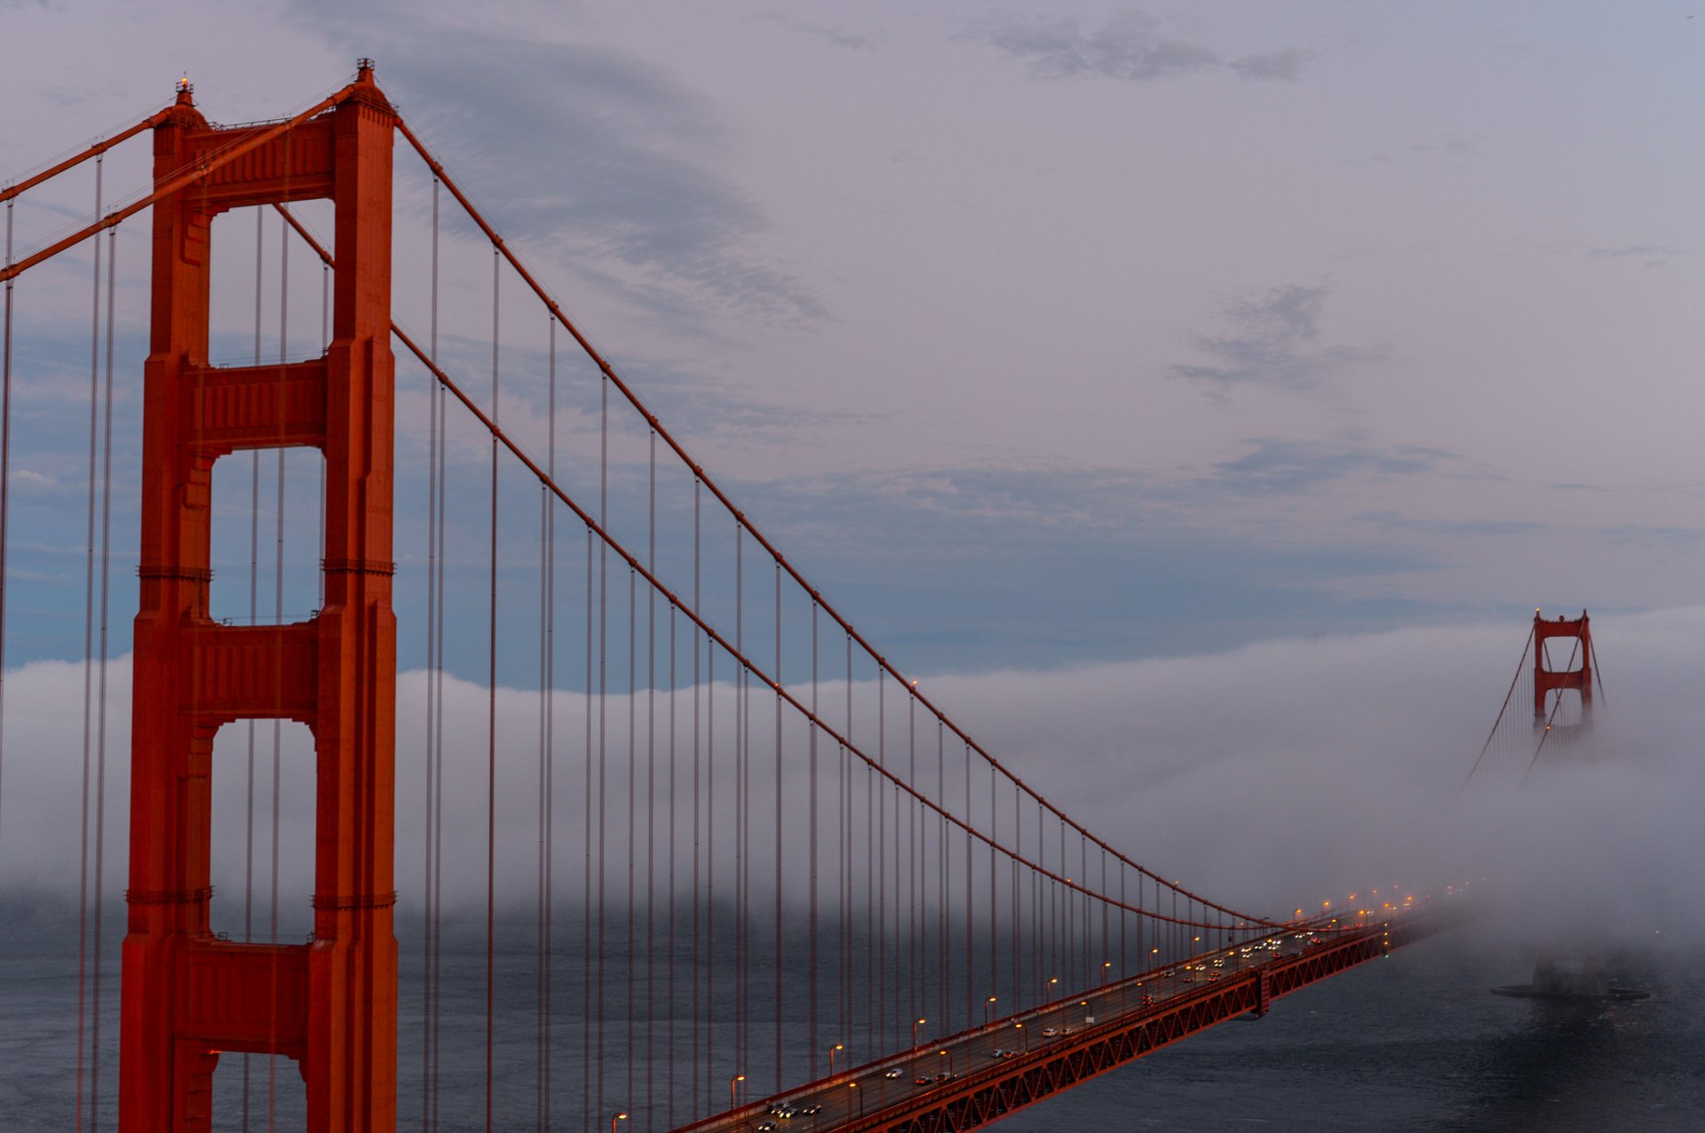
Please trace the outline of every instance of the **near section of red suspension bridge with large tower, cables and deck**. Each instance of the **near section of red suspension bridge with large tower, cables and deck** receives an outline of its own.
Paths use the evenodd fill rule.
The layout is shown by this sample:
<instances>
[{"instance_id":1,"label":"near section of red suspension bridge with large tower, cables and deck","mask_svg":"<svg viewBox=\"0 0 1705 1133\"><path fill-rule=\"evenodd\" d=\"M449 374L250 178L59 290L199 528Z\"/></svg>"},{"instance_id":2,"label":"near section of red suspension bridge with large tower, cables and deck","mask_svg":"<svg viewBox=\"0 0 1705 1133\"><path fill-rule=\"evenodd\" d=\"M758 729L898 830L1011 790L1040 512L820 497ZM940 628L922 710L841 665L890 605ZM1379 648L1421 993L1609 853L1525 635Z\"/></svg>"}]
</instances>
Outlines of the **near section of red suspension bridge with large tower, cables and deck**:
<instances>
[{"instance_id":1,"label":"near section of red suspension bridge with large tower, cables and deck","mask_svg":"<svg viewBox=\"0 0 1705 1133\"><path fill-rule=\"evenodd\" d=\"M152 184L107 206L99 170L138 136ZM89 162L92 220L15 247L15 206ZM404 175L423 245L392 240ZM184 80L0 201L0 578L14 378L38 365L14 351L27 273L89 264L94 288L77 1128L970 1130L1444 920L1390 889L1240 910L1050 802L737 506L367 60L244 126L208 123ZM118 237L143 215L140 482L114 484ZM247 281L215 278L213 235L247 244L235 216L254 225L254 349L232 363L211 312ZM113 501L131 489L114 1089L102 837ZM242 543L246 591L213 569ZM312 612L286 618L286 596ZM280 850L292 779L312 811L300 891L307 866ZM220 830L239 835L215 848ZM217 876L242 877L240 920ZM457 1002L474 986L477 1009Z\"/></svg>"}]
</instances>

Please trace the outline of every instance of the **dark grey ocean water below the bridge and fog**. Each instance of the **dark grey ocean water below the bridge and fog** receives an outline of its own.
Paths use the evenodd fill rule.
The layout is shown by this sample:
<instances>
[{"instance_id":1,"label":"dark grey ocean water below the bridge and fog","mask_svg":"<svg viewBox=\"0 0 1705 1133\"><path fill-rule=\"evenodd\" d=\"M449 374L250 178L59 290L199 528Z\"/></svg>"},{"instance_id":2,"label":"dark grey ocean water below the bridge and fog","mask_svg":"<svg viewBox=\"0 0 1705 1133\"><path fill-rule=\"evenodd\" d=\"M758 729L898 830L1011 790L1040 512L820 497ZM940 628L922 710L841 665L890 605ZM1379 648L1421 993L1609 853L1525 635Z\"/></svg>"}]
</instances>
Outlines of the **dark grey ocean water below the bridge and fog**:
<instances>
[{"instance_id":1,"label":"dark grey ocean water below the bridge and fog","mask_svg":"<svg viewBox=\"0 0 1705 1133\"><path fill-rule=\"evenodd\" d=\"M73 1128L75 951L31 947L29 934L7 934L0 956L0 1130ZM1470 930L1425 940L1390 959L1279 1000L1260 1021L1233 1021L1132 1067L1020 1113L1009 1133L1076 1130L1497 1130L1586 1133L1603 1130L1705 1130L1705 975L1695 947L1620 952L1608 958L1616 981L1652 990L1652 998L1615 1007L1557 1007L1488 993L1495 983L1524 983L1531 954L1516 946L1477 944ZM423 1113L418 1029L418 968L402 975L399 1128L419 1128ZM445 1048L440 1067L440 1130L483 1128L484 969L483 956L447 964ZM578 975L561 973L564 983ZM496 1128L534 1128L535 1015L529 1007L532 954L500 956L496 1043ZM99 1128L113 1128L116 1096L116 971L104 995ZM85 983L87 990L87 983ZM619 988L612 990L614 993ZM568 1009L563 1012L568 1015ZM588 1051L576 1021L559 1019L558 1130L607 1126L607 1114L581 1094ZM760 1043L766 1027L755 1029ZM650 1085L668 1073L662 1039ZM720 1041L704 1036L704 1043ZM689 1044L677 1034L679 1051ZM605 1032L609 1063L604 1109L634 1111L633 1133L665 1128L668 1111L641 1102L648 1073L629 1085L619 1068L627 1038ZM634 1038L636 1050L644 1039ZM595 1055L595 1051L592 1051ZM217 1075L218 1121L240 1124L240 1060L227 1056ZM679 1060L677 1060L679 1061ZM759 1058L762 1061L762 1058ZM593 1063L595 1065L595 1063ZM276 1128L300 1126L300 1080L278 1063ZM682 1072L685 1073L685 1072ZM87 1072L85 1072L87 1075ZM251 1060L251 1130L266 1130L264 1058ZM89 1082L85 1080L85 1089ZM685 1085L685 1077L682 1077ZM711 1087L704 1087L711 1092ZM723 1099L726 1080L714 1096ZM677 1111L677 1119L689 1114ZM650 1118L650 1121L646 1121ZM87 1123L85 1123L87 1124ZM798 1133L805 1133L800 1124Z\"/></svg>"}]
</instances>

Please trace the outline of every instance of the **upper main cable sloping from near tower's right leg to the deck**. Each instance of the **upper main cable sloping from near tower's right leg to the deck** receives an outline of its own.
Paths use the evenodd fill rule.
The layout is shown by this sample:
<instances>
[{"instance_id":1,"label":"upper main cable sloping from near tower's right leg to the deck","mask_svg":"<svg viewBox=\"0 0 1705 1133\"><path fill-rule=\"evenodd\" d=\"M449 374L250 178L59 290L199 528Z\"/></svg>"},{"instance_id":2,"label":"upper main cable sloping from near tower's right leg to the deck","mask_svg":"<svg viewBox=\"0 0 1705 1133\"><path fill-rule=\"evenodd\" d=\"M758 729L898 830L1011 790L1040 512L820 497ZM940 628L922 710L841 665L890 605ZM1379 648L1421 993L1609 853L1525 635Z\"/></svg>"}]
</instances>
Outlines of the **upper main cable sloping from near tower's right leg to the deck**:
<instances>
[{"instance_id":1,"label":"upper main cable sloping from near tower's right leg to the deck","mask_svg":"<svg viewBox=\"0 0 1705 1133\"><path fill-rule=\"evenodd\" d=\"M994 758L994 755L991 755L987 748L984 748L980 743L977 743L975 739L972 739L970 733L963 731L958 724L955 724L951 719L948 719L946 712L943 712L939 707L936 707L936 704L933 700L929 700L929 697L926 697L922 692L917 690L916 682L909 682L905 678L905 675L900 673L900 670L895 668L888 661L888 658L885 658L883 654L876 653L876 647L863 634L859 634L856 629L852 629L852 622L846 620L841 615L841 612L834 605L830 605L829 600L825 600L817 591L817 588L813 588L808 581L805 581L805 576L800 574L800 571L791 562L788 562L786 555L783 555L781 550L774 543L769 542L769 538L764 535L764 532L760 532L757 528L757 525L754 525L745 516L745 513L740 508L735 506L735 501L730 499L723 492L723 489L716 484L716 480L713 480L704 472L704 469L687 453L685 446L667 428L663 428L663 423L658 421L656 414L653 414L644 405L644 402L639 400L639 395L634 394L634 390L626 382L622 382L621 375L616 373L616 368L609 363L609 359L604 354L600 354L598 349L592 344L592 341L587 339L585 334L581 334L580 327L576 327L569 320L569 317L563 310L563 307L551 296L549 291L544 290L544 286L534 278L534 274L527 269L527 266L520 262L520 257L517 257L515 252L510 249L510 245L503 242L503 237L498 235L498 230L491 227L491 223L481 215L481 211L477 208L474 208L474 203L455 184L455 181L450 177L450 174L443 167L443 164L436 157L431 155L431 152L426 148L426 145L414 135L413 129L409 129L407 123L402 121L401 118L397 118L397 131L402 135L402 138L411 147L414 147L414 152L419 153L421 160L426 162L426 165L433 170L433 175L436 175L443 182L443 186L450 191L450 196L454 196L457 199L457 203L467 211L469 218L479 227L481 232L486 233L486 239L491 240L493 247L498 249L498 252L503 256L503 259L508 261L510 267L513 267L515 273L522 278L522 281L532 290L532 293L535 296L539 296L539 302L544 303L546 308L551 312L551 315L563 325L563 329L568 331L569 336L573 336L575 342L578 342L580 348L587 353L587 358L590 358L593 361L593 365L597 365L598 370L604 373L604 377L610 380L610 385L614 385L616 390L624 399L627 399L627 404L633 405L634 411L641 417L644 417L644 421L653 429L656 429L656 434L663 440L665 445L668 445L668 448L677 457L680 457L682 463L685 463L689 469L692 469L692 474L699 479L701 484L704 484L706 489L709 489L711 496L716 497L716 501L721 503L723 508L726 508L731 516L735 516L735 521L742 528L745 528L745 532L757 542L759 547L762 547L771 555L771 559L776 561L776 566L779 566L783 571L786 571L788 578L791 578L805 593L808 593L812 596L812 601L815 601L824 610L824 613L827 613L830 617L830 620L834 620L835 625L839 625L846 632L847 637L851 637L852 641L856 641L859 644L859 647L864 649L866 654L870 654L871 658L875 658L876 664L885 673L888 673L890 676L893 676L895 680L899 680L902 685L907 687L907 692L912 697L916 697L921 705L924 705L924 710L928 710L929 714L933 714L936 717L936 721L939 721L948 731L951 731L955 736L958 736L977 755L980 755L984 760L987 760L996 770L999 770L1003 775L1006 775L1006 779L1013 785L1016 785L1020 791L1023 791L1025 794L1028 794L1038 806L1042 806L1043 809L1047 809L1062 825L1069 826L1071 830L1074 830L1076 833L1079 833L1081 837L1084 837L1086 840L1089 840L1098 848L1101 848L1107 854L1113 855L1115 860L1124 862L1130 869L1136 869L1139 874L1142 874L1142 876L1149 877L1151 881L1165 886L1166 889L1171 889L1178 896L1188 898L1190 901L1195 901L1197 905L1202 905L1204 908L1212 908L1216 912L1226 913L1228 917L1234 917L1236 920L1243 920L1243 922L1246 922L1250 925L1262 925L1262 927L1267 927L1267 929L1282 929L1284 927L1282 922L1265 920L1262 917L1253 917L1250 913L1243 913L1243 912L1238 912L1234 908L1228 908L1224 905L1211 901L1211 900L1207 900L1207 898L1204 898L1204 896L1200 896L1197 893L1192 893L1190 889L1185 889L1183 886L1178 886L1178 884L1175 884L1171 881L1166 881L1165 877L1161 877L1153 869L1144 867L1141 862L1134 862L1132 859L1125 857L1125 854L1122 854L1112 843L1103 842L1096 835L1089 833L1088 828L1084 828L1083 825L1079 825L1074 818L1067 816L1066 811L1059 809L1057 806L1054 806L1054 802L1050 802L1045 797L1042 797L1042 794L1037 789L1033 789L1028 782L1025 782L1023 779L1020 779L1011 768L1008 768L1004 763L1001 763L1001 760ZM1190 925L1197 925L1197 927L1204 927L1204 929L1217 929L1217 927L1221 927L1221 925L1214 925L1214 923L1209 923L1209 922L1175 922L1175 923L1190 923Z\"/></svg>"}]
</instances>

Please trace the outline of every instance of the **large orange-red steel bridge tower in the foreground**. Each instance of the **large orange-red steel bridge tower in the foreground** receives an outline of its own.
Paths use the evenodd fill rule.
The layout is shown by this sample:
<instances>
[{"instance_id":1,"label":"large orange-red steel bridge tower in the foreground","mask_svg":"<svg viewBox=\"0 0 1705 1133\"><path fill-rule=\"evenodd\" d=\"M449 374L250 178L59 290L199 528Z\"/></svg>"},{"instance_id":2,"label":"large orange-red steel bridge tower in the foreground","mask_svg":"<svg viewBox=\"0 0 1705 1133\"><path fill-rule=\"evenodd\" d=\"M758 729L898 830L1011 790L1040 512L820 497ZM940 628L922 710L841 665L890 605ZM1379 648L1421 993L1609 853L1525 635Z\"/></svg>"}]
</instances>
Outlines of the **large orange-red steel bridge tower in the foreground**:
<instances>
[{"instance_id":1,"label":"large orange-red steel bridge tower in the foreground","mask_svg":"<svg viewBox=\"0 0 1705 1133\"><path fill-rule=\"evenodd\" d=\"M222 129L194 109L186 83L153 135L155 186L217 167L153 206L119 1041L124 1133L210 1130L223 1051L297 1060L315 1133L396 1128L396 116L365 60L334 102L281 133ZM268 129L278 136L218 164ZM213 216L312 198L336 204L327 353L210 366ZM324 608L288 625L220 625L208 617L213 462L281 446L326 457ZM314 733L314 937L234 944L208 929L213 736L232 721L280 717Z\"/></svg>"}]
</instances>

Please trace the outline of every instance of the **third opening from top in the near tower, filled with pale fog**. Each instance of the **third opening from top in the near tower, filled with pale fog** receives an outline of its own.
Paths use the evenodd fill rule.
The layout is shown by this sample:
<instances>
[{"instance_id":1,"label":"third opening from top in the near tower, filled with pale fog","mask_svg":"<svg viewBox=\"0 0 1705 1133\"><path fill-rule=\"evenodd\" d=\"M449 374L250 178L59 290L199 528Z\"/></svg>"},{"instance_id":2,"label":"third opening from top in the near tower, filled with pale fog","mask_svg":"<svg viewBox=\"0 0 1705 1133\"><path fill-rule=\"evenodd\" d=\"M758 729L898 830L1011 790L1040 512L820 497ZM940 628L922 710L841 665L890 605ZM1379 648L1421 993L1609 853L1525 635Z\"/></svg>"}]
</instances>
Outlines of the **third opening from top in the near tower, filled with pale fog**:
<instances>
[{"instance_id":1,"label":"third opening from top in the near tower, filled with pale fog","mask_svg":"<svg viewBox=\"0 0 1705 1133\"><path fill-rule=\"evenodd\" d=\"M232 942L302 944L314 930L314 733L234 721L213 738L210 927Z\"/></svg>"}]
</instances>

